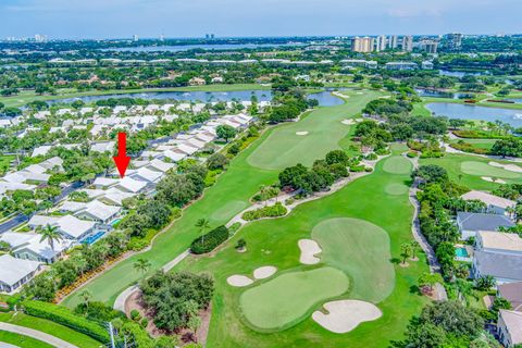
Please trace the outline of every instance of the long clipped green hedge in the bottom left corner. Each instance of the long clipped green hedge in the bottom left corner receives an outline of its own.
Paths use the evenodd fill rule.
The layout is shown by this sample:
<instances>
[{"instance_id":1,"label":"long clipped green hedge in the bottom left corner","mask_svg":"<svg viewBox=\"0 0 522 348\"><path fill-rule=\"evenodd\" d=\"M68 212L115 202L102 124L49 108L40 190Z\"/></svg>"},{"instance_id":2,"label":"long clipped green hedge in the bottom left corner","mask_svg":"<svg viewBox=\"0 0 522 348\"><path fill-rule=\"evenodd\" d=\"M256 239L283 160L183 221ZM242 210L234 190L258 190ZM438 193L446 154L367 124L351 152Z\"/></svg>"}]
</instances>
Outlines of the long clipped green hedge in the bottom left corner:
<instances>
[{"instance_id":1,"label":"long clipped green hedge in the bottom left corner","mask_svg":"<svg viewBox=\"0 0 522 348\"><path fill-rule=\"evenodd\" d=\"M47 319L51 322L71 327L103 344L110 341L109 333L101 325L73 314L65 307L32 300L23 301L22 306L24 311L29 315Z\"/></svg>"}]
</instances>

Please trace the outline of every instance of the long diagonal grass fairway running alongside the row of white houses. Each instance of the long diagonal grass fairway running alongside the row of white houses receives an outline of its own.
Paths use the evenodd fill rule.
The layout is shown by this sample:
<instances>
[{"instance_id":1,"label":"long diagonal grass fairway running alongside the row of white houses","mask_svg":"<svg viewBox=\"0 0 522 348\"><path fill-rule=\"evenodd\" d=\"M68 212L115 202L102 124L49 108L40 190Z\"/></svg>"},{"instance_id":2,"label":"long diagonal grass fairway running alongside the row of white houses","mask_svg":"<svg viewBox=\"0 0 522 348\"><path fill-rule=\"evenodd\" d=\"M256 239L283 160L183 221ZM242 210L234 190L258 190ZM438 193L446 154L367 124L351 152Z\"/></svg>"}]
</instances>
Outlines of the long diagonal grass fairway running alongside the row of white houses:
<instances>
[{"instance_id":1,"label":"long diagonal grass fairway running alongside the row of white houses","mask_svg":"<svg viewBox=\"0 0 522 348\"><path fill-rule=\"evenodd\" d=\"M250 197L259 190L261 185L273 184L277 179L278 171L253 167L248 163L247 159L252 152L257 151L260 146L263 146L264 150L271 153L270 158L275 157L278 151L281 151L281 142L272 142L272 140L283 138L284 136L279 135L279 133L287 134L287 127L300 128L299 125L302 122L307 122L309 132L323 129L321 122L319 122L322 121L333 126L334 129L346 127L343 134L348 133L350 126L343 125L340 120L353 116L375 97L376 95L373 92L355 95L343 105L319 108L298 123L285 124L269 129L263 134L261 139L257 140L250 148L239 153L231 162L228 170L219 177L214 186L204 191L202 199L185 209L183 216L172 224L165 233L154 239L151 250L135 254L117 263L114 268L95 278L84 288L91 291L94 300L113 303L121 291L141 278L141 274L134 269L134 262L136 262L137 259L144 258L151 263L149 271L149 274L151 274L189 247L190 243L199 235L199 228L195 227L199 219L209 219L211 226L224 224L239 213L246 204L249 204ZM331 121L331 113L328 112L331 109L333 110L333 117L336 119L335 122ZM318 119L318 121L315 119ZM314 128L310 128L310 125L313 125ZM272 139L265 141L269 137L272 137ZM328 135L325 135L325 137L328 138ZM301 156L301 158L311 162L312 157L307 156L307 151L314 147L321 148L321 153L326 150L322 145L322 141L324 141L323 138L313 137L313 139L315 139L316 142L312 144L310 141L296 139L296 141L288 142L286 146L293 148L288 150L289 152L296 156L300 153L299 156ZM269 146L269 144L271 144L271 146ZM337 148L337 144L332 144L332 149ZM296 161L296 159L291 160L288 157L286 157L286 159L288 164L290 164L290 161ZM313 158L313 160L315 159L318 158ZM297 161L300 161L299 158ZM297 248L297 244L295 247ZM77 293L79 291L67 297L63 304L74 308L79 303L80 298Z\"/></svg>"}]
</instances>

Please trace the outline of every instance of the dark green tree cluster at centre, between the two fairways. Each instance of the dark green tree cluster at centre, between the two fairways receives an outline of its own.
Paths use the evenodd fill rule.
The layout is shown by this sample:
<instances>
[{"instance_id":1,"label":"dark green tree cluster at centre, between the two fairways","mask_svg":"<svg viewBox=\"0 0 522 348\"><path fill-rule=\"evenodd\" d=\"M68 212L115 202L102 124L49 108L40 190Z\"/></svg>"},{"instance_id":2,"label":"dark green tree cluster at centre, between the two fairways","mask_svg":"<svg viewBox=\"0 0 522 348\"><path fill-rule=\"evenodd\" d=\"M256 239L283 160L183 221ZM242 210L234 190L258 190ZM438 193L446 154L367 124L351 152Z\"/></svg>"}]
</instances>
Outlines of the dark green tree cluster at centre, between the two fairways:
<instances>
[{"instance_id":1,"label":"dark green tree cluster at centre, between the two fairways","mask_svg":"<svg viewBox=\"0 0 522 348\"><path fill-rule=\"evenodd\" d=\"M284 169L278 175L279 186L300 190L304 196L326 190L335 181L349 175L347 166L351 163L346 152L334 150L324 160L316 160L311 169L300 163Z\"/></svg>"}]
</instances>

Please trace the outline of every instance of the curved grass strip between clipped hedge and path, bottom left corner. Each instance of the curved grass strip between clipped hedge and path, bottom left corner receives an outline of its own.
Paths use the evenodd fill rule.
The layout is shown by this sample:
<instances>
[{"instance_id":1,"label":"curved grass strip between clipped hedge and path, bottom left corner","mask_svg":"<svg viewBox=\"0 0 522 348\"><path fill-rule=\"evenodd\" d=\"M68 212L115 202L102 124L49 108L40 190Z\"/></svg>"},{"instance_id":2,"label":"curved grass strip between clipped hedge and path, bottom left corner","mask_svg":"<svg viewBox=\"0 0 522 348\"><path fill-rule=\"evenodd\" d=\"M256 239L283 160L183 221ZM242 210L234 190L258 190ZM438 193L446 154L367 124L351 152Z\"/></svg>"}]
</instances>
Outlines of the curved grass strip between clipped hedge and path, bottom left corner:
<instances>
[{"instance_id":1,"label":"curved grass strip between clipped hedge and path, bottom left corner","mask_svg":"<svg viewBox=\"0 0 522 348\"><path fill-rule=\"evenodd\" d=\"M97 348L102 346L102 344L96 339L72 328L57 324L49 320L30 316L21 312L16 313L16 315L13 315L13 313L0 313L0 322L41 331L42 333L61 338L82 348Z\"/></svg>"}]
</instances>

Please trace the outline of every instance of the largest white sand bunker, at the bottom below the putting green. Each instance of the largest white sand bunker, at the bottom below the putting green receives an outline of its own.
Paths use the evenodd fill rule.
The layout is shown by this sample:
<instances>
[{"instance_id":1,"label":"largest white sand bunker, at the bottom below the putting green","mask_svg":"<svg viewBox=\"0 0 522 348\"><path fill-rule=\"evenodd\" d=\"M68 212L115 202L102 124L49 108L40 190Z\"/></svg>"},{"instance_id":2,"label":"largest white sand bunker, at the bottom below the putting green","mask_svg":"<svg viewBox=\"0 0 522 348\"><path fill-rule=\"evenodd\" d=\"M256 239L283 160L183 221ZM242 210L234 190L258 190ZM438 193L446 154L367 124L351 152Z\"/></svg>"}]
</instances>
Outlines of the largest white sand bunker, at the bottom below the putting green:
<instances>
[{"instance_id":1,"label":"largest white sand bunker, at the bottom below the putting green","mask_svg":"<svg viewBox=\"0 0 522 348\"><path fill-rule=\"evenodd\" d=\"M324 303L323 307L328 314L315 311L312 313L312 319L336 334L346 334L360 323L370 322L383 315L374 304L359 300L332 301Z\"/></svg>"}]
</instances>

